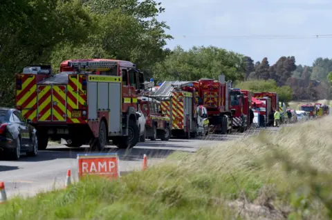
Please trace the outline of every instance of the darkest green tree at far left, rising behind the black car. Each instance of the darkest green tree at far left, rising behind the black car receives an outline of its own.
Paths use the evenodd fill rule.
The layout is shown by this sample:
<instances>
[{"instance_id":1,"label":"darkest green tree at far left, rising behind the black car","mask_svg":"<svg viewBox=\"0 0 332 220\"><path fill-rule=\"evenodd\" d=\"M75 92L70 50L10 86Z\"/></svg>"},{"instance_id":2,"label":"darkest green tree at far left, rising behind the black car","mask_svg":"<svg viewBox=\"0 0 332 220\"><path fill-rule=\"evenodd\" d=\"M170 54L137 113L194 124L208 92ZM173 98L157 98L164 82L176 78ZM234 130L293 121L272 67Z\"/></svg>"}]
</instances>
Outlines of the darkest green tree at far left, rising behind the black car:
<instances>
[{"instance_id":1,"label":"darkest green tree at far left, rising behind the black car","mask_svg":"<svg viewBox=\"0 0 332 220\"><path fill-rule=\"evenodd\" d=\"M1 1L1 106L13 106L14 73L30 63L46 63L59 42L73 45L93 30L80 1ZM9 89L8 89L9 88Z\"/></svg>"}]
</instances>

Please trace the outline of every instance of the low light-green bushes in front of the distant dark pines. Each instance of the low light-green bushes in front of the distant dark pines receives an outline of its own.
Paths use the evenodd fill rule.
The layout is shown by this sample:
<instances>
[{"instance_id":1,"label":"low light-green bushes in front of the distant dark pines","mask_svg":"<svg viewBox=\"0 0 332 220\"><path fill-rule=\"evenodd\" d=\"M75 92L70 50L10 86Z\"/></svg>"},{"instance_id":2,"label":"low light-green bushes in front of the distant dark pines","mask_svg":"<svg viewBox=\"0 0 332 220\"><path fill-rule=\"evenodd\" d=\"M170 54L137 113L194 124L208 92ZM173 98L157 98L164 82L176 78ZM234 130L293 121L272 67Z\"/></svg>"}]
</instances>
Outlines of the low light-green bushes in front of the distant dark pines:
<instances>
[{"instance_id":1,"label":"low light-green bushes in front of the distant dark pines","mask_svg":"<svg viewBox=\"0 0 332 220\"><path fill-rule=\"evenodd\" d=\"M288 103L292 100L292 90L289 86L278 87L277 82L273 79L242 81L237 83L237 88L251 90L252 92L277 92L279 101Z\"/></svg>"}]
</instances>

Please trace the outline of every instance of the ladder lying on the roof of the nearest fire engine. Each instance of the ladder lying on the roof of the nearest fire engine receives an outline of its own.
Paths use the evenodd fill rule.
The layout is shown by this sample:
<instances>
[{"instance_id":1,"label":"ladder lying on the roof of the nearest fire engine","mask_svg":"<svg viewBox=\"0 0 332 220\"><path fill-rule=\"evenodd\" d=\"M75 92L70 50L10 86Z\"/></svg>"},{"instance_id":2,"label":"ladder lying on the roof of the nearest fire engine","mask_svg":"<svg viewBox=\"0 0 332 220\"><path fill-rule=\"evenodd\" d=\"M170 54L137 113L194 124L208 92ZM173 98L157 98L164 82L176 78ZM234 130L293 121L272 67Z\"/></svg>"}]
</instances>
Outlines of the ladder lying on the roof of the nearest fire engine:
<instances>
[{"instance_id":1,"label":"ladder lying on the roof of the nearest fire engine","mask_svg":"<svg viewBox=\"0 0 332 220\"><path fill-rule=\"evenodd\" d=\"M117 61L69 61L68 66L76 70L104 70L118 66Z\"/></svg>"}]
</instances>

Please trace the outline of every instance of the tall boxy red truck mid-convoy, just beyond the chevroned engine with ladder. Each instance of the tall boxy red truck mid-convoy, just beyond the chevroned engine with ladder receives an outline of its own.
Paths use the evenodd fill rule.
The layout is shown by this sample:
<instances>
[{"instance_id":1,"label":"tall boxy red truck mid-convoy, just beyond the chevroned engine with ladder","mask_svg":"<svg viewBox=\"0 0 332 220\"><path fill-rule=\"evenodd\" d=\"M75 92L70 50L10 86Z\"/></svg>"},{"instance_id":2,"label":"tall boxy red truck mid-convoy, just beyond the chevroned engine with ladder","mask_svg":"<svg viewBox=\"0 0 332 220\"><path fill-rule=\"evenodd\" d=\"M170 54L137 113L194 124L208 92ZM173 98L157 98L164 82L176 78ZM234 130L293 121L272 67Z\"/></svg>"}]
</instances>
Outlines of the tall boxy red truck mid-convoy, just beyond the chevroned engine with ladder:
<instances>
[{"instance_id":1,"label":"tall boxy red truck mid-convoy, just beyond the chevroned engine with ladder","mask_svg":"<svg viewBox=\"0 0 332 220\"><path fill-rule=\"evenodd\" d=\"M219 75L219 81L200 79L193 83L199 105L208 110L209 123L215 133L232 132L230 83L225 82L225 75Z\"/></svg>"}]
</instances>

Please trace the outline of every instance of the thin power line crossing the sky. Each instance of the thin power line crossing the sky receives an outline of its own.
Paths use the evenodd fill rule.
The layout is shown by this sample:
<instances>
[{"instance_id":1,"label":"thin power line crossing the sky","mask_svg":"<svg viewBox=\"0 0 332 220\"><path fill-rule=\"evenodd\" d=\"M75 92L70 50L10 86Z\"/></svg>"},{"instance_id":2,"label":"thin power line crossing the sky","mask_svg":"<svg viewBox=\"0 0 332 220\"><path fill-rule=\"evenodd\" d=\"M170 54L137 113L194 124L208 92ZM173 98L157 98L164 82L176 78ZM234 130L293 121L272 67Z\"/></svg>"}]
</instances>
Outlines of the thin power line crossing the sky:
<instances>
[{"instance_id":1,"label":"thin power line crossing the sky","mask_svg":"<svg viewBox=\"0 0 332 220\"><path fill-rule=\"evenodd\" d=\"M172 35L172 34L171 34ZM217 39L325 39L332 34L316 35L172 35L174 38L217 38Z\"/></svg>"}]
</instances>

